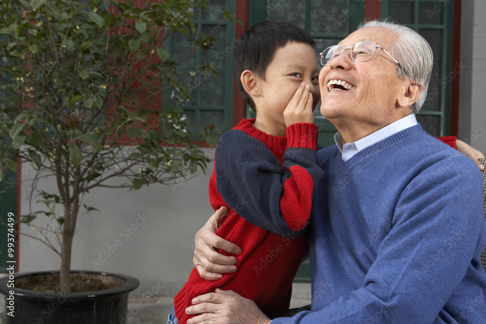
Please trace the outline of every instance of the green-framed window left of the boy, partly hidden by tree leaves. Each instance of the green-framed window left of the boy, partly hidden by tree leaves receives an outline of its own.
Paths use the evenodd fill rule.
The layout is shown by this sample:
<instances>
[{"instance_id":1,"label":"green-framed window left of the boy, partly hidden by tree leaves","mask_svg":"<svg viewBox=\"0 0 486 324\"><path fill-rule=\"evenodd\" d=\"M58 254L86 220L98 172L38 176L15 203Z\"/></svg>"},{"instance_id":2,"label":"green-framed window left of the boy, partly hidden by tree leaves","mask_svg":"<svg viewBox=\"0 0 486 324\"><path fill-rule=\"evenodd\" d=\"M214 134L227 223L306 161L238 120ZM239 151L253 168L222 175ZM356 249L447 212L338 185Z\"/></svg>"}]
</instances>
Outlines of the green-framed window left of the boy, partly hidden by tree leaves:
<instances>
[{"instance_id":1,"label":"green-framed window left of the boy, partly hidden by tree leaves","mask_svg":"<svg viewBox=\"0 0 486 324\"><path fill-rule=\"evenodd\" d=\"M226 5L227 9L233 13L236 12L236 0L214 0L209 3L210 12L205 10L202 14L197 15L197 22L196 22L196 30L203 30L208 31L212 30L221 21L217 20L222 17L222 13L214 15L214 13L218 13L220 10L220 4ZM203 65L205 62L205 58L207 59L208 56L212 56L210 59L206 60L206 64L208 63L216 63L216 66L220 65L220 68L223 67L223 70L220 69L222 72L218 77L224 81L220 82L214 77L207 77L203 73L196 73L187 75L185 82L189 86L192 87L191 94L192 98L190 102L186 102L183 104L183 110L186 117L191 121L193 128L191 129L193 138L198 140L199 134L203 131L203 127L210 123L206 122L206 120L216 120L216 123L213 123L215 126L216 131L226 131L233 127L233 92L234 92L234 58L233 58L233 47L232 42L234 42L234 35L235 35L235 22L234 21L226 21L219 26L219 32L224 30L224 37L216 37L216 43L218 48L216 50L208 50L206 52L201 51L200 49L193 53L193 63L191 64L191 69L198 72L201 71L200 68L194 68L194 66ZM213 35L211 35L213 36ZM175 38L176 36L172 35L168 37L164 42L164 47L171 53L171 57L177 58L177 47L184 44L185 40L182 37ZM191 35L185 37L186 39L190 39ZM231 51L229 51L231 50ZM224 63L219 64L218 62ZM213 99L216 98L217 103L208 103L207 98L210 96L210 91L205 89L204 87L208 85L212 81L212 88L216 93L216 96L212 97ZM164 85L165 87L166 85ZM173 89L166 90L164 92L164 98L171 96L171 91ZM221 96L224 96L222 99ZM212 115L211 115L212 114Z\"/></svg>"}]
</instances>

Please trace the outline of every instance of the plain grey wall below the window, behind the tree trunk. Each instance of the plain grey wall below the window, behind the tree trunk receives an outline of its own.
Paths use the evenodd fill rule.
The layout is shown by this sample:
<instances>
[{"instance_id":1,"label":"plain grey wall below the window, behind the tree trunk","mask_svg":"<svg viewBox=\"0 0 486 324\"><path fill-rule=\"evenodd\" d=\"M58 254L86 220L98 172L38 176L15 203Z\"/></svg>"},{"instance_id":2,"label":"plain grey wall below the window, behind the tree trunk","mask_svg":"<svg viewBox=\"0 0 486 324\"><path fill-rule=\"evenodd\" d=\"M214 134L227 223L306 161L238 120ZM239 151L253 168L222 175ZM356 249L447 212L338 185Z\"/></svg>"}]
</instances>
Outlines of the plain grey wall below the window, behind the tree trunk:
<instances>
[{"instance_id":1,"label":"plain grey wall below the window, behind the tree trunk","mask_svg":"<svg viewBox=\"0 0 486 324\"><path fill-rule=\"evenodd\" d=\"M213 156L213 152L208 152L208 157ZM92 211L78 220L71 269L95 270L96 266L97 271L132 275L140 280L134 294L148 290L174 296L193 268L194 234L213 213L208 198L213 166L211 161L206 175L198 171L195 178L173 187L157 184L130 192L116 188L91 190L83 204L96 207L101 213ZM34 176L28 166L24 166L24 173L23 180ZM39 183L38 188L54 192L53 179ZM28 193L29 182L22 183L22 214L29 212ZM33 209L43 209L43 204L35 205L36 200L33 199ZM25 225L21 231L36 235ZM106 245L114 250L116 243L120 246L110 252ZM59 256L45 246L35 245L30 238L20 237L19 248L20 272L60 267ZM100 253L109 257L104 260ZM93 261L100 265L93 266Z\"/></svg>"}]
</instances>

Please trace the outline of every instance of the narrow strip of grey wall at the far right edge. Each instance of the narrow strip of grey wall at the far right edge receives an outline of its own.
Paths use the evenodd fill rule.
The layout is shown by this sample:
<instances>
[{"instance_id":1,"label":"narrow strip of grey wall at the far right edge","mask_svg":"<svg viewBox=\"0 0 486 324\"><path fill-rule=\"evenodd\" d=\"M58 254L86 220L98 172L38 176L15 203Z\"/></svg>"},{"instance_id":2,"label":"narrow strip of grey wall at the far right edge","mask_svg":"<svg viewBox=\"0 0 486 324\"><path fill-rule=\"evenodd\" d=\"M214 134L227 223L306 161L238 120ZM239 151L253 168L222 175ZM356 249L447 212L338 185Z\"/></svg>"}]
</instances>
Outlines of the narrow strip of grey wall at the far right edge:
<instances>
[{"instance_id":1,"label":"narrow strip of grey wall at the far right edge","mask_svg":"<svg viewBox=\"0 0 486 324\"><path fill-rule=\"evenodd\" d=\"M459 139L486 153L486 1L462 1Z\"/></svg>"}]
</instances>

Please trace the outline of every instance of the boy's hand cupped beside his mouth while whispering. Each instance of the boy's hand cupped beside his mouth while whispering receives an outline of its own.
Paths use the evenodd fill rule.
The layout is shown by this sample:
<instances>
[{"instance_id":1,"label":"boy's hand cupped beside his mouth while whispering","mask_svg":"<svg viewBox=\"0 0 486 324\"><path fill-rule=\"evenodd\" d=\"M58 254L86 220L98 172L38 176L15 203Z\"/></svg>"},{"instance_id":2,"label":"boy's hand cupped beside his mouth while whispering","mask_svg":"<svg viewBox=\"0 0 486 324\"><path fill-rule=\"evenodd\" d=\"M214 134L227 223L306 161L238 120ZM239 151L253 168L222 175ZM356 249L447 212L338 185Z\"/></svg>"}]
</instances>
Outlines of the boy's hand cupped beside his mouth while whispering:
<instances>
[{"instance_id":1,"label":"boy's hand cupped beside his mouth while whispering","mask_svg":"<svg viewBox=\"0 0 486 324\"><path fill-rule=\"evenodd\" d=\"M289 127L292 124L306 122L313 124L314 115L312 115L312 94L310 93L310 85L302 82L294 97L283 112L283 119L285 126Z\"/></svg>"}]
</instances>

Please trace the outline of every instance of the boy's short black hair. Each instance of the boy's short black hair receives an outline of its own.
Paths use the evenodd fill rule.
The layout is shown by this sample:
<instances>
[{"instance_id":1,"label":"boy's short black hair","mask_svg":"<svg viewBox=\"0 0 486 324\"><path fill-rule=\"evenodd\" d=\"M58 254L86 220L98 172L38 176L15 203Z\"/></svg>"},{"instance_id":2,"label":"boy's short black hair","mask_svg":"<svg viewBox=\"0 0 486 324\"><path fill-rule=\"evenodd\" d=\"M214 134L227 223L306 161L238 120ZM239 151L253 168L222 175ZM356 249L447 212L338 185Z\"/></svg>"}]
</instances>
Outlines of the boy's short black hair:
<instances>
[{"instance_id":1,"label":"boy's short black hair","mask_svg":"<svg viewBox=\"0 0 486 324\"><path fill-rule=\"evenodd\" d=\"M244 70L250 70L265 80L265 71L275 52L288 42L305 43L315 48L311 34L292 22L275 19L256 24L240 36L235 45L235 77L244 101L253 109L255 102L246 93L241 82Z\"/></svg>"}]
</instances>

